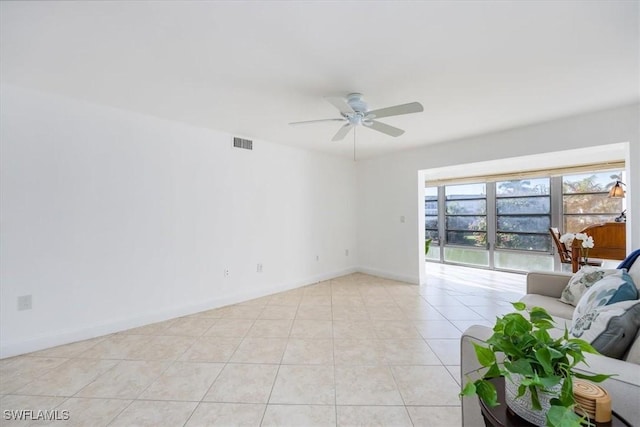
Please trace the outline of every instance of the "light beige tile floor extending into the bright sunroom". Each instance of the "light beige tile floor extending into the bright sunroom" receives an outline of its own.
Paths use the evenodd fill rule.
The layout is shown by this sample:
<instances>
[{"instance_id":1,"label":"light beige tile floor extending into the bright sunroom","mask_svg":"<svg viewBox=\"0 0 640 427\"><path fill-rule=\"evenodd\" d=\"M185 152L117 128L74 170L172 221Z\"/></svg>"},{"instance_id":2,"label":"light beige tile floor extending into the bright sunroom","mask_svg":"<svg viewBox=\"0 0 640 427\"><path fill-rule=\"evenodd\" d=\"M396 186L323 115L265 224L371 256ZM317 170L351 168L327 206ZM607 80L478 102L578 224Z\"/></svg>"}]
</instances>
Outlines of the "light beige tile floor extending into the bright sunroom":
<instances>
[{"instance_id":1,"label":"light beige tile floor extending into the bright sunroom","mask_svg":"<svg viewBox=\"0 0 640 427\"><path fill-rule=\"evenodd\" d=\"M2 426L460 425L459 338L525 276L352 274L0 361ZM7 420L5 410L69 420Z\"/></svg>"}]
</instances>

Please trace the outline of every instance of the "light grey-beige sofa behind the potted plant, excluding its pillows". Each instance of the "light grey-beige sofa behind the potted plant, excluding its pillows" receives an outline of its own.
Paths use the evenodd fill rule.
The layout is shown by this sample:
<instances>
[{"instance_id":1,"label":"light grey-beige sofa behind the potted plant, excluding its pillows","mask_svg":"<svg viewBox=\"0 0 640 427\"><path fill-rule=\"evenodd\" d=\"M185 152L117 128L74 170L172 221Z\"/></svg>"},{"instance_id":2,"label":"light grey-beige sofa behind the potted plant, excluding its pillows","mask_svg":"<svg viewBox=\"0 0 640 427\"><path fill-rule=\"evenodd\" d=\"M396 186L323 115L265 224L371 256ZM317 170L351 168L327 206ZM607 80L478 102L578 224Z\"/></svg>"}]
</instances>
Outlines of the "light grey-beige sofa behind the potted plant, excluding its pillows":
<instances>
[{"instance_id":1,"label":"light grey-beige sofa behind the potted plant, excluding its pillows","mask_svg":"<svg viewBox=\"0 0 640 427\"><path fill-rule=\"evenodd\" d=\"M640 262L633 264L629 274L636 285L640 285ZM531 272L527 275L527 295L521 301L528 306L544 307L556 320L558 332L564 325L571 327L573 306L558 300L562 290L571 278L567 273ZM473 349L473 342L483 342L492 334L485 326L471 326L461 338L460 370L462 384L466 375L480 367ZM613 359L602 355L587 354L589 366L579 365L578 371L584 373L617 374L600 385L604 387L612 399L613 410L633 426L640 426L640 333L625 356L625 360ZM462 399L462 425L465 427L484 427L480 413L478 398Z\"/></svg>"}]
</instances>

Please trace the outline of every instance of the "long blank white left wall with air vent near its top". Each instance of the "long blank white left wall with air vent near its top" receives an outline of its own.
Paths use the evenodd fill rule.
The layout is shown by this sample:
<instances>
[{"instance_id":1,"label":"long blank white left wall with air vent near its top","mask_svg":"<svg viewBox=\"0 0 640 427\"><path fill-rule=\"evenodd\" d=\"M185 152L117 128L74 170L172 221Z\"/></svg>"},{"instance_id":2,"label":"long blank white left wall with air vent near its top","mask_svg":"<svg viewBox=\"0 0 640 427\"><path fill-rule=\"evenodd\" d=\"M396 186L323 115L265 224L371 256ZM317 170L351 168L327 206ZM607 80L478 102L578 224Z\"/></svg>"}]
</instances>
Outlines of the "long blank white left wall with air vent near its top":
<instances>
[{"instance_id":1,"label":"long blank white left wall with air vent near its top","mask_svg":"<svg viewBox=\"0 0 640 427\"><path fill-rule=\"evenodd\" d=\"M17 87L1 98L2 357L357 264L351 161L234 149L228 134Z\"/></svg>"}]
</instances>

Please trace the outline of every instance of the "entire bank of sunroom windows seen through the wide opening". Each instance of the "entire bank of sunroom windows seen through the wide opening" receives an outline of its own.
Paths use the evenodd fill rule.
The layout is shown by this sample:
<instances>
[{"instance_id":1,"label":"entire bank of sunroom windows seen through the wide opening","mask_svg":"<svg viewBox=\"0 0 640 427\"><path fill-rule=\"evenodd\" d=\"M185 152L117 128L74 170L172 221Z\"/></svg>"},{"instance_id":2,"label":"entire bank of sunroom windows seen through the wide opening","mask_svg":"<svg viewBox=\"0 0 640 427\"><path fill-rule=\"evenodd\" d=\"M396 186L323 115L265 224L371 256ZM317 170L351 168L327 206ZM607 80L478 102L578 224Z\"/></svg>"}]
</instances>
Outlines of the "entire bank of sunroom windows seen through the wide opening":
<instances>
[{"instance_id":1,"label":"entire bank of sunroom windows seen through the wide opening","mask_svg":"<svg viewBox=\"0 0 640 427\"><path fill-rule=\"evenodd\" d=\"M431 181L425 188L425 236L434 240L426 259L504 270L559 269L549 228L575 233L614 221L625 199L608 193L616 181L625 181L622 169L624 164L578 166L529 177L494 175L474 184L441 181L437 187Z\"/></svg>"}]
</instances>

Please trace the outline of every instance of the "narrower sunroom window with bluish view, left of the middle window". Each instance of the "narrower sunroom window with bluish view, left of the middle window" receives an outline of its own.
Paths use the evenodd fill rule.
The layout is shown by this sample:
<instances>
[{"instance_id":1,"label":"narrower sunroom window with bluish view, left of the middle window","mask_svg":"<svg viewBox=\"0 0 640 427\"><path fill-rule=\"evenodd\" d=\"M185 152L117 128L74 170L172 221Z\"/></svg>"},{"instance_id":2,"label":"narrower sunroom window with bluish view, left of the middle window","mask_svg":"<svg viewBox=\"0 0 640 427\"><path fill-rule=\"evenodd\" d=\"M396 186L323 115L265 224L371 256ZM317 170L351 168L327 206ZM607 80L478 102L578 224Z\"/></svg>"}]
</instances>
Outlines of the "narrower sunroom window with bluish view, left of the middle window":
<instances>
[{"instance_id":1,"label":"narrower sunroom window with bluish view, left of the middle window","mask_svg":"<svg viewBox=\"0 0 640 427\"><path fill-rule=\"evenodd\" d=\"M445 187L447 244L487 246L486 184Z\"/></svg>"}]
</instances>

